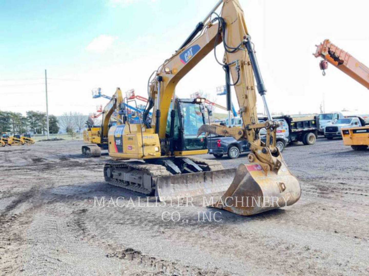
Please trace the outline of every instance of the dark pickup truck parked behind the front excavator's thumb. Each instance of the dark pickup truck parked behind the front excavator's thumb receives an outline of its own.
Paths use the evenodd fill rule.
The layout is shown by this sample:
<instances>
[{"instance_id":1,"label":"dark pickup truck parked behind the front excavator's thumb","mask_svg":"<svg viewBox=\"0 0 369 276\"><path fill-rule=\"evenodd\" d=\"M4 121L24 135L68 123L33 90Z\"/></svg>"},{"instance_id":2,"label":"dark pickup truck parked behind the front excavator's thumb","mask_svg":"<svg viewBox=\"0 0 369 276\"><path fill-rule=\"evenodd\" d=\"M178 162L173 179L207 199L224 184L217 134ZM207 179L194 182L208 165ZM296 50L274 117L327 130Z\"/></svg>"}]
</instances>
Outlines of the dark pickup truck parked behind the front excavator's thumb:
<instances>
[{"instance_id":1,"label":"dark pickup truck parked behind the front excavator's thumb","mask_svg":"<svg viewBox=\"0 0 369 276\"><path fill-rule=\"evenodd\" d=\"M287 140L283 134L277 134L276 136L276 146L280 152L287 145ZM261 136L262 141L265 142L265 135ZM224 137L220 135L209 135L207 137L207 146L210 154L214 155L216 158L221 158L223 155L228 155L229 158L238 158L241 152L249 152L246 140L237 141L233 137Z\"/></svg>"}]
</instances>

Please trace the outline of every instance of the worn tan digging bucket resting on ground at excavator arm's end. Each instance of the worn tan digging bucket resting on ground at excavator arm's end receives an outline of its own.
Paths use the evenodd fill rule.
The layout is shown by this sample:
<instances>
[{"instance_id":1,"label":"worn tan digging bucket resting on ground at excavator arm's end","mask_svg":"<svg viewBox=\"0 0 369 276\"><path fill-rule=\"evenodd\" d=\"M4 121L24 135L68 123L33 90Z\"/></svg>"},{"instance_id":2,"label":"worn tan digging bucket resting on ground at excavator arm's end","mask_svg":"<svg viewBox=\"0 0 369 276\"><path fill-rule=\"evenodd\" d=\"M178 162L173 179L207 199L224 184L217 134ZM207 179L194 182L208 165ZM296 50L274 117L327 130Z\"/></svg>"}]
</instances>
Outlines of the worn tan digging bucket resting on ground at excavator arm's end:
<instances>
[{"instance_id":1,"label":"worn tan digging bucket resting on ground at excavator arm's end","mask_svg":"<svg viewBox=\"0 0 369 276\"><path fill-rule=\"evenodd\" d=\"M266 174L258 163L240 164L232 184L213 207L249 216L292 205L300 195L300 184L283 160L278 173Z\"/></svg>"}]
</instances>

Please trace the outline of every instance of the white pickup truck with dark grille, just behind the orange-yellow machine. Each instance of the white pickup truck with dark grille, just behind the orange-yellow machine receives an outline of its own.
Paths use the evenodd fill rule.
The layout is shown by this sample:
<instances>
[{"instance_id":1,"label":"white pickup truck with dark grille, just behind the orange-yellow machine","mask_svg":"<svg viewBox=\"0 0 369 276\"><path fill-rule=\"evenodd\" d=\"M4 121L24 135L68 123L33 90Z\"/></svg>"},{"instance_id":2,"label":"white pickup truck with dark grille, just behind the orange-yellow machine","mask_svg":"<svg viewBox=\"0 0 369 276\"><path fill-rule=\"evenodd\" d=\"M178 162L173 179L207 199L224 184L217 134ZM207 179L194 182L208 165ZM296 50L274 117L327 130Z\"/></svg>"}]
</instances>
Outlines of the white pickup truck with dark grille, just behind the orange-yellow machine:
<instances>
[{"instance_id":1,"label":"white pickup truck with dark grille, just behind the orange-yellow machine","mask_svg":"<svg viewBox=\"0 0 369 276\"><path fill-rule=\"evenodd\" d=\"M359 116L352 116L335 120L324 127L324 137L332 140L335 137L342 137L341 128L362 127L365 120Z\"/></svg>"}]
</instances>

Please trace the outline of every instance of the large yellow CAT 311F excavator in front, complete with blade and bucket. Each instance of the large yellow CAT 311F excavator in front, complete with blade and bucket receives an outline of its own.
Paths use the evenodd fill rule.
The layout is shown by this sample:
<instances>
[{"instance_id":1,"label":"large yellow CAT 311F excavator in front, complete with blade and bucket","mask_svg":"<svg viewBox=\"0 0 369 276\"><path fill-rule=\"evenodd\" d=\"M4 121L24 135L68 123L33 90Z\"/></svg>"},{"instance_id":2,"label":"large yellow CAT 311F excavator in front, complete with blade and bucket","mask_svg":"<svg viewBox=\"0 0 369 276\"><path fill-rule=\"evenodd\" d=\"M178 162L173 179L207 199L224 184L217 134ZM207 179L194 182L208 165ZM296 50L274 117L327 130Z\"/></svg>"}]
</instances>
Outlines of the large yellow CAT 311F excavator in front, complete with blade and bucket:
<instances>
[{"instance_id":1,"label":"large yellow CAT 311F excavator in front, complete with blade and bucket","mask_svg":"<svg viewBox=\"0 0 369 276\"><path fill-rule=\"evenodd\" d=\"M221 4L218 15L215 11ZM176 101L175 88L180 79L208 53L215 53L219 44L224 47L224 57L219 61L215 54L215 59L225 71L228 102L230 86L234 86L242 128L207 124L198 128L202 116L198 102L202 99ZM268 120L262 123L258 122L256 111L256 89L268 114ZM161 201L225 191L212 206L238 215L294 204L300 198L300 184L276 147L279 123L270 115L265 93L242 8L237 0L220 0L175 54L149 78L149 101L142 124L130 124L125 106L120 106L123 123L118 122L108 131L108 151L113 160L104 166L105 180L144 194L155 192ZM265 143L259 135L262 128L267 131ZM217 161L191 157L207 152L209 133L246 139L251 150L249 163L240 164L237 170L224 170ZM132 158L140 161L122 160ZM246 204L246 199L260 198L263 203L270 202L270 198L273 202Z\"/></svg>"}]
</instances>

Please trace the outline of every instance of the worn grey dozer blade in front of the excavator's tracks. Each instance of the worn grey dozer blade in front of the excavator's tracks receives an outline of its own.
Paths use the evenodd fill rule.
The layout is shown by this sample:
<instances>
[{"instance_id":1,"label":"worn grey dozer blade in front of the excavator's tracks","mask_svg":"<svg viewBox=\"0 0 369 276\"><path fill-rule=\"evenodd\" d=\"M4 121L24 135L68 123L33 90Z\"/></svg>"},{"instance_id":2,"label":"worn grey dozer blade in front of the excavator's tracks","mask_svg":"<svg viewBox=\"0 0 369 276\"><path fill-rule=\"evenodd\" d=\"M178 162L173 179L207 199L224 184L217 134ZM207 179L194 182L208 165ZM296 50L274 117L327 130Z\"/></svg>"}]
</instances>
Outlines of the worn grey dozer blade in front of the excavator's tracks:
<instances>
[{"instance_id":1,"label":"worn grey dozer blade in front of the excavator's tracks","mask_svg":"<svg viewBox=\"0 0 369 276\"><path fill-rule=\"evenodd\" d=\"M229 187L236 169L203 171L169 176L156 179L155 196L160 201L173 197L194 197L197 195L224 192Z\"/></svg>"}]
</instances>

